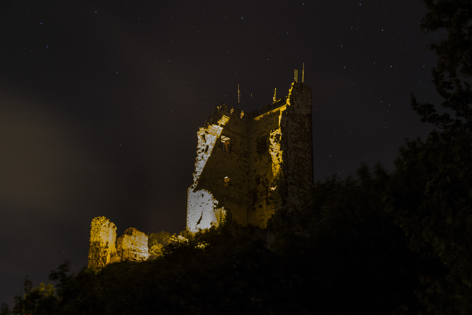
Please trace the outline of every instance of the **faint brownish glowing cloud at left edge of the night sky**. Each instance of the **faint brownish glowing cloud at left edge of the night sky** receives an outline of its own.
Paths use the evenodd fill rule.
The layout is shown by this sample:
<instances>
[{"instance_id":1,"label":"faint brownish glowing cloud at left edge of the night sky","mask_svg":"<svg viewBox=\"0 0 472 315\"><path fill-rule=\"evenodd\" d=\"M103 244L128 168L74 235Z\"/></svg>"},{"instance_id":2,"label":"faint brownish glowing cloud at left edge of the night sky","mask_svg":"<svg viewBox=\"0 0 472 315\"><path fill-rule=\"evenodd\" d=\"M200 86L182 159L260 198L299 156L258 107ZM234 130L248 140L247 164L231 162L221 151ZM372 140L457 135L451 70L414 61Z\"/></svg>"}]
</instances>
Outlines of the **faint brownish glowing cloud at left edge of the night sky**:
<instances>
[{"instance_id":1,"label":"faint brownish glowing cloud at left edge of the night sky","mask_svg":"<svg viewBox=\"0 0 472 315\"><path fill-rule=\"evenodd\" d=\"M38 109L40 102L0 96L0 199L61 212L96 198L107 165L88 152L72 119Z\"/></svg>"}]
</instances>

